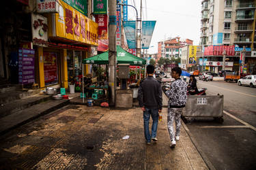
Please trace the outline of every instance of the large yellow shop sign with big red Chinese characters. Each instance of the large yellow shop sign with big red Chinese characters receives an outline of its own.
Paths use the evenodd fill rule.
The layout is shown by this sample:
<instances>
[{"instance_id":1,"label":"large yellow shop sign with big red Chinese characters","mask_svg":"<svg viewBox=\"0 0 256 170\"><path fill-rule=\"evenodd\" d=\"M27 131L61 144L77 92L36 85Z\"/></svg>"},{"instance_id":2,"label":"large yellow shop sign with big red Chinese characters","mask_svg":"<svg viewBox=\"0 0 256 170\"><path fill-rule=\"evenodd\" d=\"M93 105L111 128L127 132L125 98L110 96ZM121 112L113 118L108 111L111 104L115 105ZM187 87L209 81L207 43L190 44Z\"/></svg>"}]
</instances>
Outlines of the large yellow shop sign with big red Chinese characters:
<instances>
[{"instance_id":1,"label":"large yellow shop sign with big red Chinese characters","mask_svg":"<svg viewBox=\"0 0 256 170\"><path fill-rule=\"evenodd\" d=\"M98 23L59 0L59 13L55 14L57 37L98 46Z\"/></svg>"}]
</instances>

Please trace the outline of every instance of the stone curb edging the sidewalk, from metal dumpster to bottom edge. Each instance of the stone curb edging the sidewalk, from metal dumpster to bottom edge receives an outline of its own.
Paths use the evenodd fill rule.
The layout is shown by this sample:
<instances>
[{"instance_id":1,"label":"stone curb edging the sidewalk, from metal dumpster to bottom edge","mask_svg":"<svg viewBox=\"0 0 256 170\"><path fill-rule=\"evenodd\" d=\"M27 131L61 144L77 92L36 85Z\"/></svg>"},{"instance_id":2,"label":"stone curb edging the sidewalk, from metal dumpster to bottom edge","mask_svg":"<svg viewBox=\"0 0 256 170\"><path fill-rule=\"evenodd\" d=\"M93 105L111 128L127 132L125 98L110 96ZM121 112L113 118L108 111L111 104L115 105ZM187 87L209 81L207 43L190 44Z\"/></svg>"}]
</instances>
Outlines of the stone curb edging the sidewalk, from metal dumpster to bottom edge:
<instances>
[{"instance_id":1,"label":"stone curb edging the sidewalk, from metal dumpster to bottom edge","mask_svg":"<svg viewBox=\"0 0 256 170\"><path fill-rule=\"evenodd\" d=\"M203 152L203 150L201 150L201 148L197 147L199 146L199 144L197 143L195 137L192 135L192 133L189 131L188 127L186 126L186 124L183 122L182 120L182 126L184 127L186 133L188 134L188 136L190 137L190 140L192 141L192 143L194 144L195 148L197 149L197 152L199 152L199 154L201 155L201 157L203 158L203 161L205 162L205 164L208 166L209 169L212 170L216 170L215 167L212 165L212 163L210 162L210 160L208 159L208 157L206 156L206 154Z\"/></svg>"}]
</instances>

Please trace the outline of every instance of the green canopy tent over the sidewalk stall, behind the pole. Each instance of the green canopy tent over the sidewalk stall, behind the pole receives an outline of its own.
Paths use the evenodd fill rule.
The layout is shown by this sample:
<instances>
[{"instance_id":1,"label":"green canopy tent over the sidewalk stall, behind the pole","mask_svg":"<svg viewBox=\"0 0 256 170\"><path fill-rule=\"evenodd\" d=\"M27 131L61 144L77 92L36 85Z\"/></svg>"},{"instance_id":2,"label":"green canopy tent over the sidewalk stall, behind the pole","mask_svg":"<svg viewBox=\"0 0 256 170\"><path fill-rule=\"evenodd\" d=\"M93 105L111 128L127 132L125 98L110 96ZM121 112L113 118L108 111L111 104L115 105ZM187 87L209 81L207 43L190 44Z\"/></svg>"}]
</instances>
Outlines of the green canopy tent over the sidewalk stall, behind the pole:
<instances>
[{"instance_id":1,"label":"green canopy tent over the sidewalk stall, behind the pole","mask_svg":"<svg viewBox=\"0 0 256 170\"><path fill-rule=\"evenodd\" d=\"M91 56L90 58L85 58L83 59L83 64L107 65L109 64L109 52L107 51L96 56ZM117 46L117 64L145 65L146 61Z\"/></svg>"}]
</instances>

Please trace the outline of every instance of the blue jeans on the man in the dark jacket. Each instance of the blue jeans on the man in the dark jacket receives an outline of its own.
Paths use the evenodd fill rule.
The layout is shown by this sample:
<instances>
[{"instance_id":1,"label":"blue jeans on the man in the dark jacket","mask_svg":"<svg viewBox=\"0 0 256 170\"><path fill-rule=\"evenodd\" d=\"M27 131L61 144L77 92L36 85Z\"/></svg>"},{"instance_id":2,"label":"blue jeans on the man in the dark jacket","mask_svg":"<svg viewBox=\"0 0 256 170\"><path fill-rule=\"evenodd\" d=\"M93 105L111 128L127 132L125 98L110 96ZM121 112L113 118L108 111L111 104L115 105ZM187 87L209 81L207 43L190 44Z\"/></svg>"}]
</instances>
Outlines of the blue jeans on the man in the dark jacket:
<instances>
[{"instance_id":1,"label":"blue jeans on the man in the dark jacket","mask_svg":"<svg viewBox=\"0 0 256 170\"><path fill-rule=\"evenodd\" d=\"M152 134L150 135L150 115L153 120L152 124ZM152 137L156 137L156 131L157 131L157 125L158 125L158 109L147 109L145 108L145 111L143 112L143 119L144 119L144 134L145 139L147 142L151 142Z\"/></svg>"}]
</instances>

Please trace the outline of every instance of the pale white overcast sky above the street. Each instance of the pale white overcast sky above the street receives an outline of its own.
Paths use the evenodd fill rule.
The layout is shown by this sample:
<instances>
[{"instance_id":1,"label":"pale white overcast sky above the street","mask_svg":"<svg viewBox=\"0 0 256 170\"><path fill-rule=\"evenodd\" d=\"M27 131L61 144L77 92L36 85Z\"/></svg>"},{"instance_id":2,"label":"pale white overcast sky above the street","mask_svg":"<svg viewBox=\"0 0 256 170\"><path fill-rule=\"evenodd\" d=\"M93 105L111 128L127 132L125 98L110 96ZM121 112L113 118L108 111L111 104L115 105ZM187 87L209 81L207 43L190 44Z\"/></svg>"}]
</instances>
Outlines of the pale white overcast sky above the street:
<instances>
[{"instance_id":1,"label":"pale white overcast sky above the street","mask_svg":"<svg viewBox=\"0 0 256 170\"><path fill-rule=\"evenodd\" d=\"M141 0L128 0L129 5L134 5L134 2L139 13ZM201 0L142 0L142 3L142 20L156 20L150 44L154 47L148 50L148 54L157 53L158 41L168 37L192 39L194 45L199 45ZM136 12L132 7L128 7L130 19L136 20Z\"/></svg>"}]
</instances>

